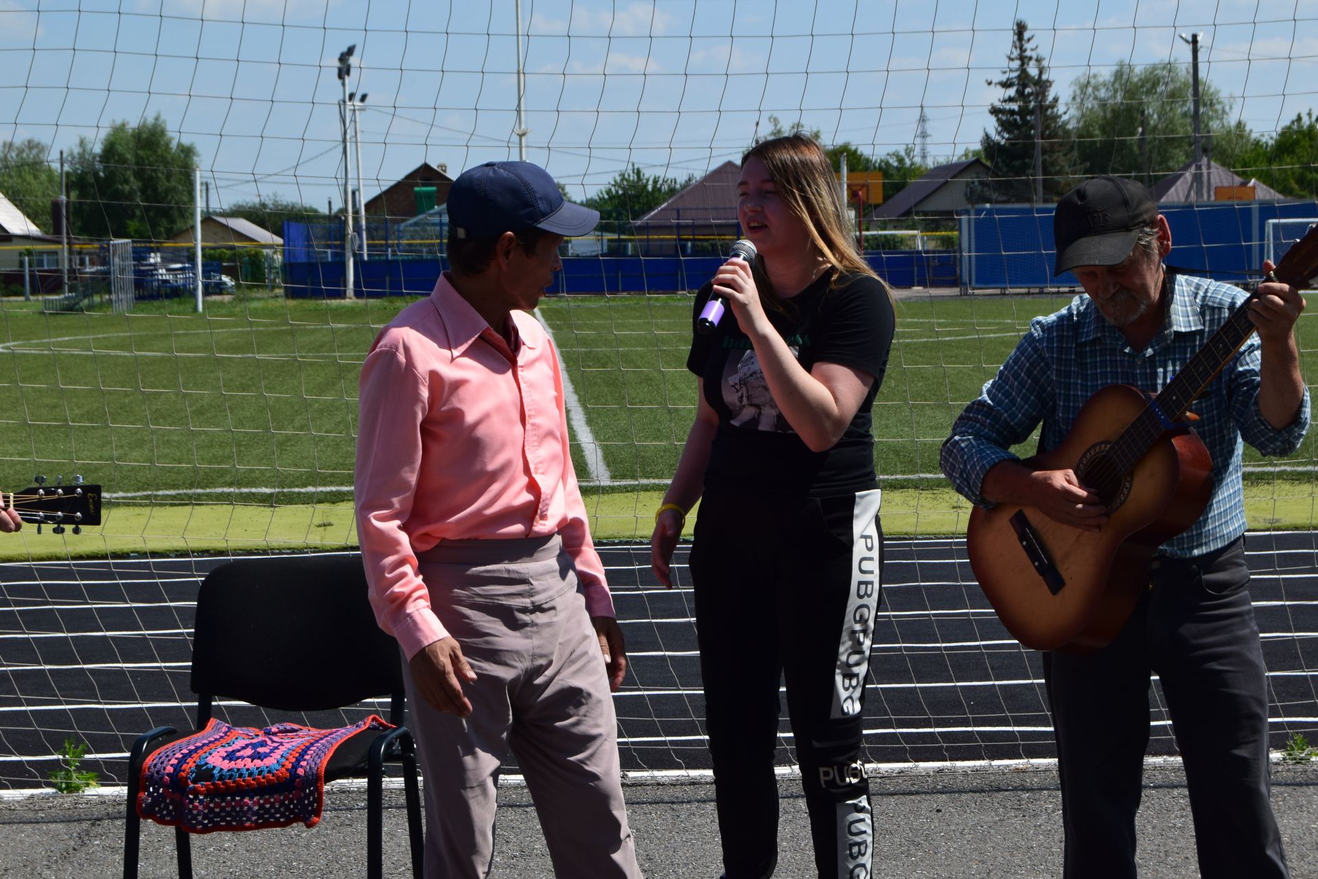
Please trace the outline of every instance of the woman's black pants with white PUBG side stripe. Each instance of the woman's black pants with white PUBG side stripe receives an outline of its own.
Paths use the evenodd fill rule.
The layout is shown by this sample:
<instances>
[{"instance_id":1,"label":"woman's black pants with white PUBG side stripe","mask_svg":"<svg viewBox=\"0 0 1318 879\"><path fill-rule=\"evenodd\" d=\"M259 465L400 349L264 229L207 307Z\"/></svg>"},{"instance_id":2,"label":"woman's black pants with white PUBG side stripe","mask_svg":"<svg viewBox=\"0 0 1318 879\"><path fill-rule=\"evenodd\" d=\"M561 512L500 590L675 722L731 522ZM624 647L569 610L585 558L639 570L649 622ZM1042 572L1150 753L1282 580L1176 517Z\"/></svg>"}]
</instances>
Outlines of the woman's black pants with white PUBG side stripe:
<instances>
[{"instance_id":1,"label":"woman's black pants with white PUBG side stripe","mask_svg":"<svg viewBox=\"0 0 1318 879\"><path fill-rule=\"evenodd\" d=\"M820 876L870 875L861 733L883 561L878 511L878 490L706 492L700 503L691 573L728 879L770 876L778 862L780 676Z\"/></svg>"}]
</instances>

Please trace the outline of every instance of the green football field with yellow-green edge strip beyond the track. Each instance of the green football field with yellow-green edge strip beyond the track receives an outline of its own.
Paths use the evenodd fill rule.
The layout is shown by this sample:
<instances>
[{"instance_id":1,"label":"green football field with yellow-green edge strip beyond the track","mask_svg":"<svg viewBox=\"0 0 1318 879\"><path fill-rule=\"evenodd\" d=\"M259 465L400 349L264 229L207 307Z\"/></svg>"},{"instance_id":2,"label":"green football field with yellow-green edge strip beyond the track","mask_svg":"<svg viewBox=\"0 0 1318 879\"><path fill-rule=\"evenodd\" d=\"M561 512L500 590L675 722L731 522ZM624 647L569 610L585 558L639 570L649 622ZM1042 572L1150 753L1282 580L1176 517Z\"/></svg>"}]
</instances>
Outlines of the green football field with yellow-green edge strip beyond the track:
<instances>
[{"instance_id":1,"label":"green football field with yellow-green edge strip beyond the track","mask_svg":"<svg viewBox=\"0 0 1318 879\"><path fill-rule=\"evenodd\" d=\"M1068 299L900 298L874 410L891 532L965 527L938 447L1029 319ZM21 489L33 473L103 485L107 523L70 552L351 544L357 374L378 328L410 302L239 295L208 299L204 315L186 299L47 315L0 299L0 486ZM648 538L695 412L691 298L552 298L539 314L580 405L573 452L596 534ZM1301 319L1300 339L1313 385L1318 315ZM1267 464L1314 457L1310 436ZM1247 464L1261 460L1247 449ZM1256 526L1311 525L1310 472L1248 478ZM43 552L22 543L22 555Z\"/></svg>"}]
</instances>

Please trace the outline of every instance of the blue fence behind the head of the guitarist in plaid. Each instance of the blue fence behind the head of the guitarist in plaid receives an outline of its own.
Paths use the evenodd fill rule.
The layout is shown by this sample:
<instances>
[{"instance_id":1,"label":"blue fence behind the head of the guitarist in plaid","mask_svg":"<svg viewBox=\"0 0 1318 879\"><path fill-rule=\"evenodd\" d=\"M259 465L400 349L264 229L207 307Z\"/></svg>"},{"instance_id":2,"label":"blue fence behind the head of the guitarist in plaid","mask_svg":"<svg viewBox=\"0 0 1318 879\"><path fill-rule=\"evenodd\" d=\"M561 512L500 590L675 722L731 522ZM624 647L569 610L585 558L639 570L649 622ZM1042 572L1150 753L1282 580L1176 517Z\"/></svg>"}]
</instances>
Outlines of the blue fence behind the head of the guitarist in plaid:
<instances>
[{"instance_id":1,"label":"blue fence behind the head of the guitarist in plaid","mask_svg":"<svg viewBox=\"0 0 1318 879\"><path fill-rule=\"evenodd\" d=\"M1218 281L1257 274L1268 220L1318 216L1318 202L1211 202L1164 204L1172 229L1169 265L1203 270ZM961 278L967 290L1078 286L1053 278L1053 206L998 204L962 213ZM900 286L900 285L898 285Z\"/></svg>"}]
</instances>

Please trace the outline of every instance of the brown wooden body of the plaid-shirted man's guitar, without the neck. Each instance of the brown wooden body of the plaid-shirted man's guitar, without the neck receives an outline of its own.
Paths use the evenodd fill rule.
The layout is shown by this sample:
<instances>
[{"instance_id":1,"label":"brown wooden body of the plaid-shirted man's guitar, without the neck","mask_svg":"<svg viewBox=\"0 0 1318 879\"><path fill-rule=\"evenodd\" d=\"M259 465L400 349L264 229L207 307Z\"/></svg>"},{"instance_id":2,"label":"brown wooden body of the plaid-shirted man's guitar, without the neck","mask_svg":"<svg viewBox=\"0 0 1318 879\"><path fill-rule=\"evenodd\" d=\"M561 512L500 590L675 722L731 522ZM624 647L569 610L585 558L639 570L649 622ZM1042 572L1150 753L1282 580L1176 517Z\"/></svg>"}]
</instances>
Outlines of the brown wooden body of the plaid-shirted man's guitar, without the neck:
<instances>
[{"instance_id":1,"label":"brown wooden body of the plaid-shirted man's guitar, without the neck","mask_svg":"<svg viewBox=\"0 0 1318 879\"><path fill-rule=\"evenodd\" d=\"M1111 385L1081 409L1057 448L1024 464L1036 470L1085 470L1148 406L1128 385ZM1106 646L1148 589L1153 551L1203 513L1213 494L1209 451L1189 430L1168 432L1106 497L1108 521L1097 532L1056 522L1035 507L999 503L970 514L970 567L1003 625L1035 650L1087 651ZM1045 581L1021 546L1024 513L1035 546L1061 579Z\"/></svg>"}]
</instances>

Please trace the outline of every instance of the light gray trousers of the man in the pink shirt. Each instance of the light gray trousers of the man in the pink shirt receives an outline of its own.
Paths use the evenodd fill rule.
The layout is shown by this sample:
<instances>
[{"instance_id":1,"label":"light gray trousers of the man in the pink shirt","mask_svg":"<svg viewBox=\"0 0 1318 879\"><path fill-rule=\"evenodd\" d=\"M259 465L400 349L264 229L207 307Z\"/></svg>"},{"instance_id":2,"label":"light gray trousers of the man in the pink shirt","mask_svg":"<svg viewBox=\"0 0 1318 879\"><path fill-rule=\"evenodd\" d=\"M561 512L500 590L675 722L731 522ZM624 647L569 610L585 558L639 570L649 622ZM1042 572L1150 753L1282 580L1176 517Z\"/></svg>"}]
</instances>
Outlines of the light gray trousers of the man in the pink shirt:
<instances>
[{"instance_id":1,"label":"light gray trousers of the man in the pink shirt","mask_svg":"<svg viewBox=\"0 0 1318 879\"><path fill-rule=\"evenodd\" d=\"M496 779L526 778L563 879L639 879L600 643L561 540L445 540L419 556L431 606L476 672L471 717L436 712L406 671L426 785L426 878L484 879Z\"/></svg>"}]
</instances>

